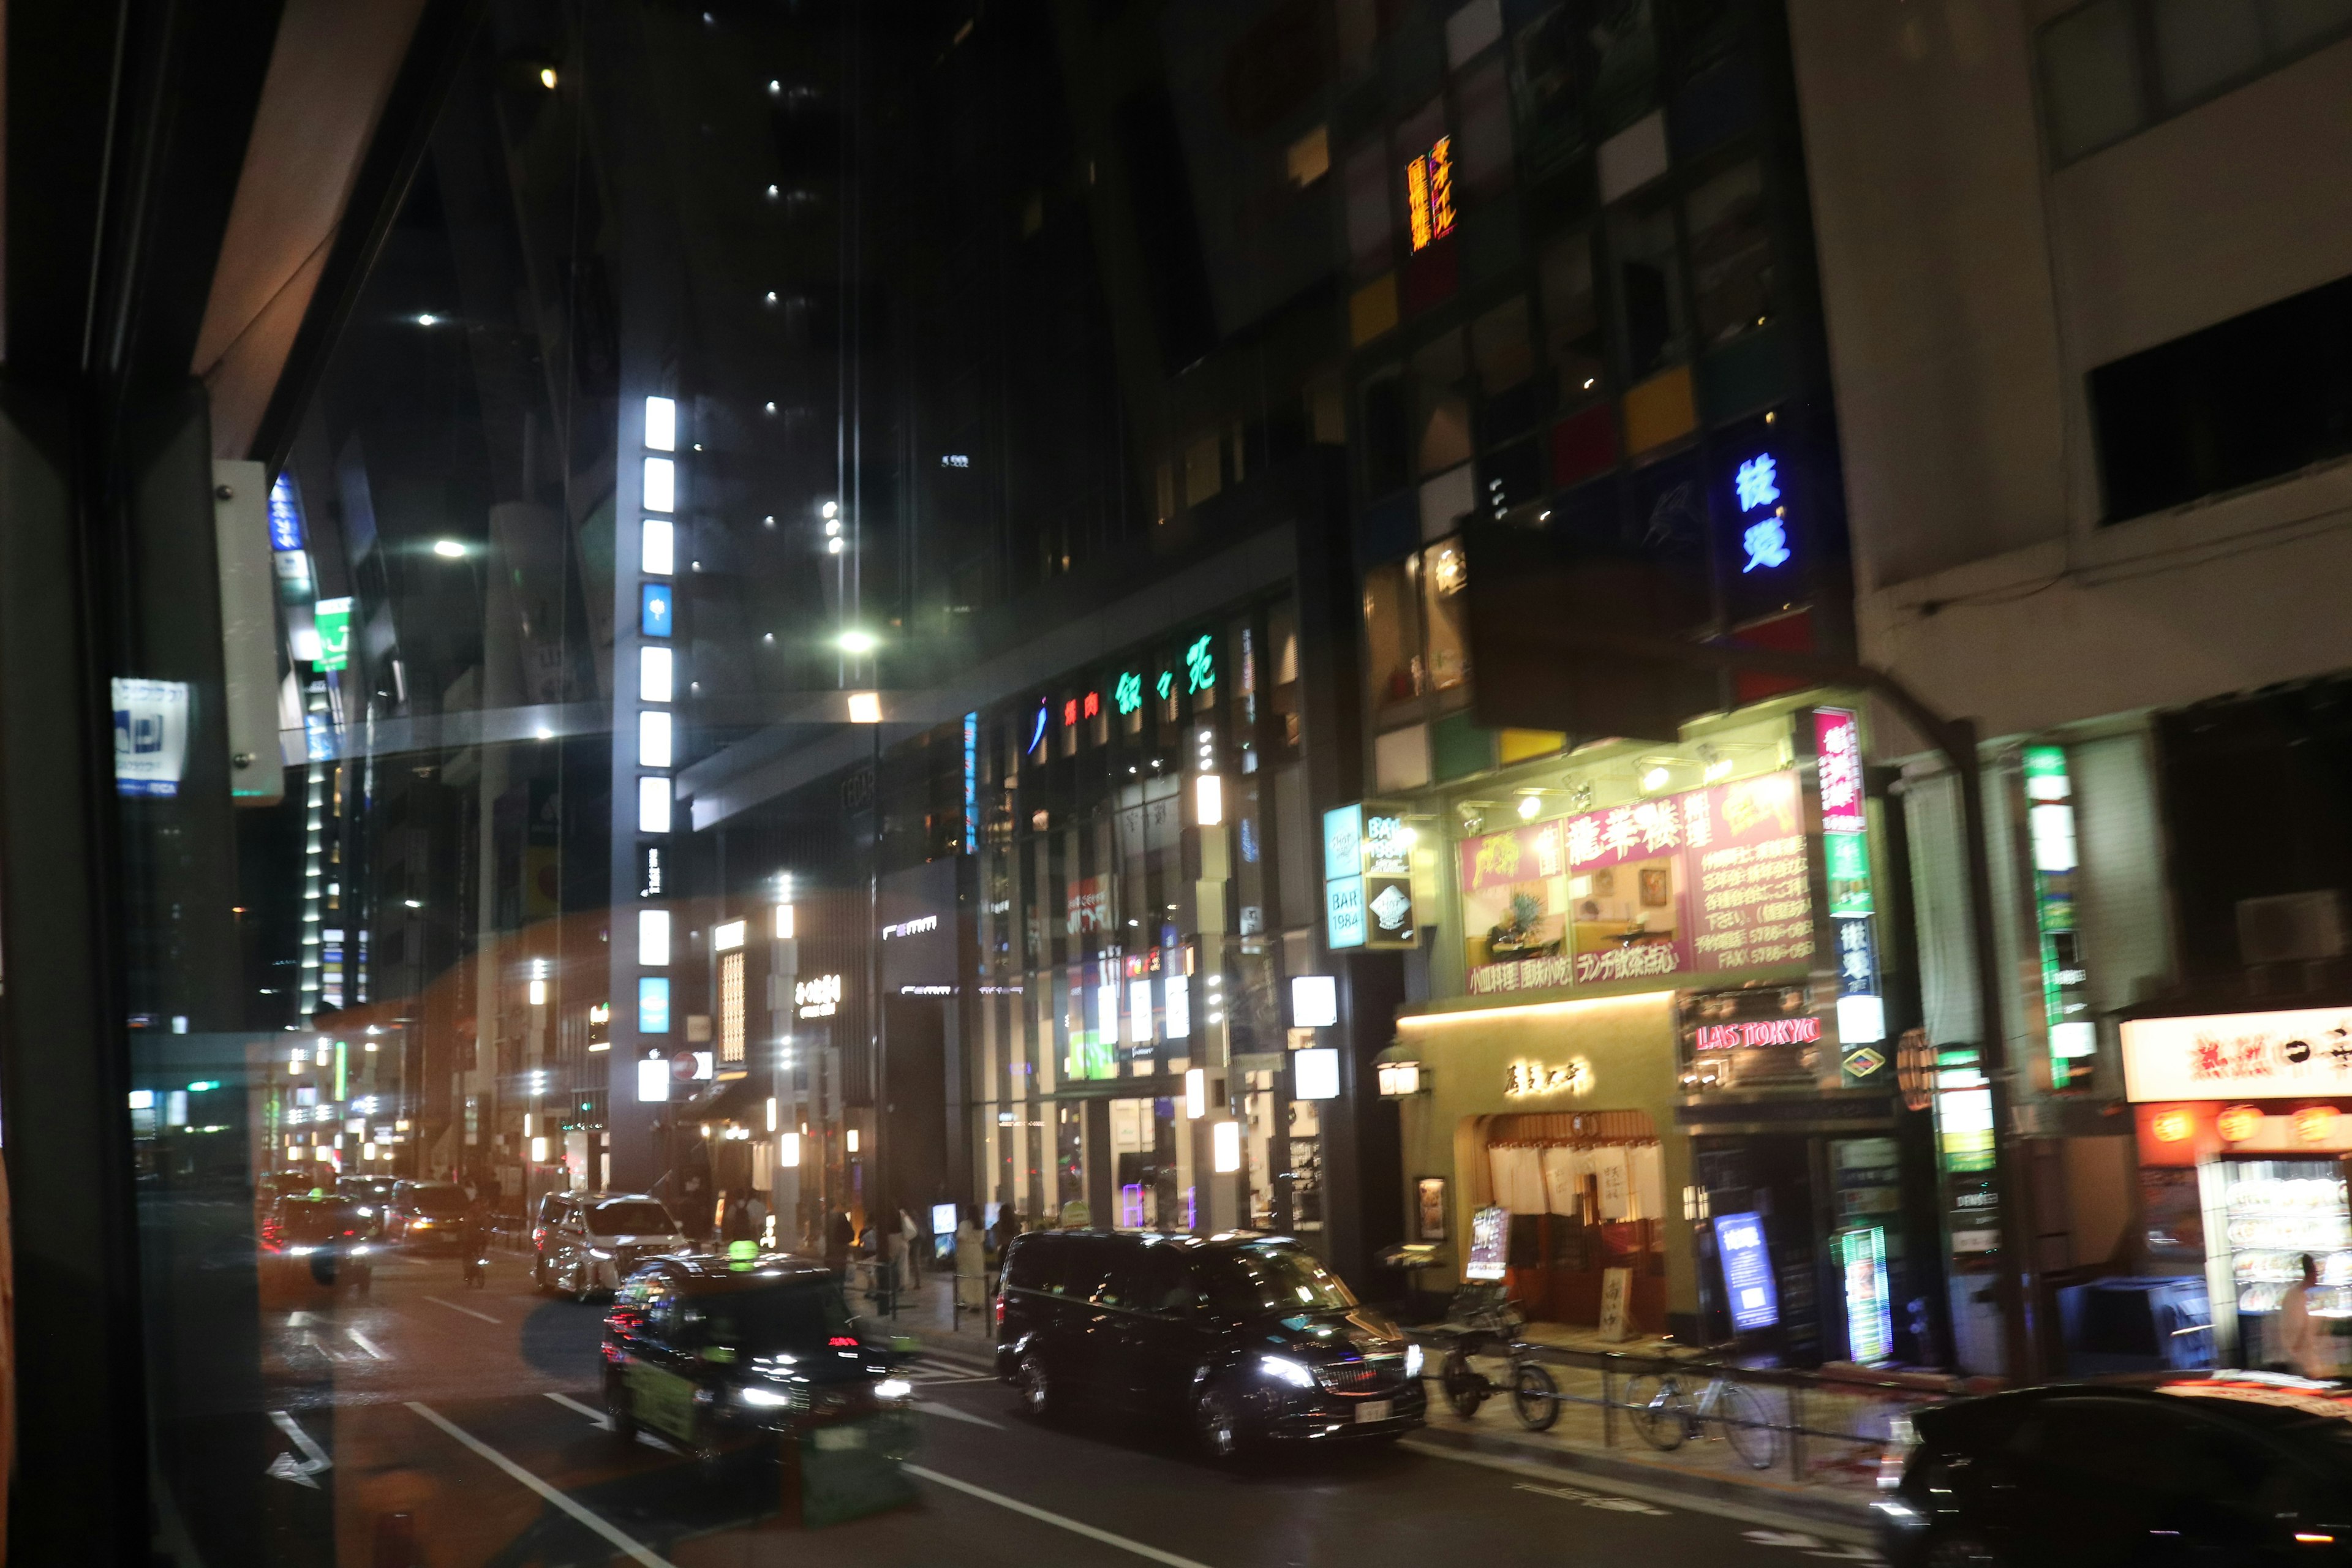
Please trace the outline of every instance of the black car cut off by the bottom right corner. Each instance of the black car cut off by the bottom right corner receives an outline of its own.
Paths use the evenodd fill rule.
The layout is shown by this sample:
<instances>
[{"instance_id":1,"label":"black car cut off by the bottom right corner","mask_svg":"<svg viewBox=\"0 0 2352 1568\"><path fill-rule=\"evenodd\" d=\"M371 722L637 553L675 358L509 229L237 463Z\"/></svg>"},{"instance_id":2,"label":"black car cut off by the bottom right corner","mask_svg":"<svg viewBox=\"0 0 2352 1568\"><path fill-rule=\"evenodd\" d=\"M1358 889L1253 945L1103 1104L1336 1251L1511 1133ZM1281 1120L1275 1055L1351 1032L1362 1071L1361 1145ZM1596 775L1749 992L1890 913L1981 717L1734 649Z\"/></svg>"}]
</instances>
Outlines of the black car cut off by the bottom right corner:
<instances>
[{"instance_id":1,"label":"black car cut off by the bottom right corner","mask_svg":"<svg viewBox=\"0 0 2352 1568\"><path fill-rule=\"evenodd\" d=\"M1896 1568L2352 1563L2352 1394L2274 1373L1929 1406L1879 1502Z\"/></svg>"}]
</instances>

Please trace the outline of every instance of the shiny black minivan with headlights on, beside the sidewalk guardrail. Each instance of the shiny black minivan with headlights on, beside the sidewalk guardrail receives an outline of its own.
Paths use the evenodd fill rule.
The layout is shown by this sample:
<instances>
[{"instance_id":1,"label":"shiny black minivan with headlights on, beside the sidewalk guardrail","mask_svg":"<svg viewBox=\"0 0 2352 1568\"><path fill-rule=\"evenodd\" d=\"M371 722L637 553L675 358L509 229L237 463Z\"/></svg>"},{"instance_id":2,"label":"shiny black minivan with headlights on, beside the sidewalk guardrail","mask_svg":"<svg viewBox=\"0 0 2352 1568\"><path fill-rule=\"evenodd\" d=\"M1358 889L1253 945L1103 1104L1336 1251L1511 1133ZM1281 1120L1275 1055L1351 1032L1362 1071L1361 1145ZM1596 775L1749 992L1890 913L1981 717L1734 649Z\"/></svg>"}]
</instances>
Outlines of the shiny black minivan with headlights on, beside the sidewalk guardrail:
<instances>
[{"instance_id":1,"label":"shiny black minivan with headlights on, beside the sidewalk guardrail","mask_svg":"<svg viewBox=\"0 0 2352 1568\"><path fill-rule=\"evenodd\" d=\"M1216 1458L1397 1439L1428 1410L1421 1347L1303 1246L1256 1232L1016 1237L997 1375L1030 1415L1096 1401L1176 1418Z\"/></svg>"}]
</instances>

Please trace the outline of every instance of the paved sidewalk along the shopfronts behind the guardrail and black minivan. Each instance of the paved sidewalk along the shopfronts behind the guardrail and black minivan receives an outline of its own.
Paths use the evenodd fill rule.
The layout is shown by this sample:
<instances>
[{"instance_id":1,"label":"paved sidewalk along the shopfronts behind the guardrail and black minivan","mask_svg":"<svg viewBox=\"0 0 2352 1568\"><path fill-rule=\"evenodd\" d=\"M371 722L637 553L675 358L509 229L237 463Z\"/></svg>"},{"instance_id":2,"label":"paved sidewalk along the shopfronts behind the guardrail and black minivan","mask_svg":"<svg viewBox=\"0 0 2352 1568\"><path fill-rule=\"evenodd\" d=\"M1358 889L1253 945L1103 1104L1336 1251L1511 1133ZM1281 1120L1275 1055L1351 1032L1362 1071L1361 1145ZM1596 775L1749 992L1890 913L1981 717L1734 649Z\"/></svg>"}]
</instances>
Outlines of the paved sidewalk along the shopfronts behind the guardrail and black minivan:
<instances>
[{"instance_id":1,"label":"paved sidewalk along the shopfronts behind the guardrail and black minivan","mask_svg":"<svg viewBox=\"0 0 2352 1568\"><path fill-rule=\"evenodd\" d=\"M861 1293L854 1293L849 1305L856 1312L873 1309ZM889 1324L891 1333L915 1335L943 1363L995 1371L990 1314L964 1312L957 1324L946 1279L924 1274L922 1286L901 1293L898 1316L877 1321ZM1538 1345L1592 1352L1644 1354L1661 1347L1658 1340L1604 1345L1590 1331L1581 1333L1559 1324L1529 1324L1526 1338ZM1482 1371L1489 1378L1501 1378L1503 1363L1486 1361ZM1599 1399L1602 1373L1578 1366L1552 1366L1550 1371L1559 1380L1562 1394ZM1877 1497L1877 1465L1889 1418L1907 1408L1860 1392L1806 1389L1797 1410L1802 1425L1816 1432L1837 1432L1844 1439L1806 1436L1797 1450L1788 1434L1778 1434L1780 1458L1771 1469L1757 1472L1712 1434L1693 1439L1675 1453L1658 1453L1642 1441L1623 1410L1611 1422L1599 1406L1564 1399L1559 1420L1548 1432L1526 1432L1512 1413L1508 1394L1496 1394L1475 1418L1463 1420L1446 1408L1435 1380L1428 1389L1430 1425L1416 1439L1421 1443L1578 1474L1585 1481L1606 1479L1684 1495L1700 1493L1722 1502L1745 1502L1842 1526L1872 1521L1870 1505ZM1623 1399L1623 1385L1616 1387L1616 1396ZM1776 1420L1790 1420L1788 1396L1780 1389L1759 1389L1759 1399L1766 1401L1766 1410ZM1613 1443L1609 1427L1616 1429Z\"/></svg>"}]
</instances>

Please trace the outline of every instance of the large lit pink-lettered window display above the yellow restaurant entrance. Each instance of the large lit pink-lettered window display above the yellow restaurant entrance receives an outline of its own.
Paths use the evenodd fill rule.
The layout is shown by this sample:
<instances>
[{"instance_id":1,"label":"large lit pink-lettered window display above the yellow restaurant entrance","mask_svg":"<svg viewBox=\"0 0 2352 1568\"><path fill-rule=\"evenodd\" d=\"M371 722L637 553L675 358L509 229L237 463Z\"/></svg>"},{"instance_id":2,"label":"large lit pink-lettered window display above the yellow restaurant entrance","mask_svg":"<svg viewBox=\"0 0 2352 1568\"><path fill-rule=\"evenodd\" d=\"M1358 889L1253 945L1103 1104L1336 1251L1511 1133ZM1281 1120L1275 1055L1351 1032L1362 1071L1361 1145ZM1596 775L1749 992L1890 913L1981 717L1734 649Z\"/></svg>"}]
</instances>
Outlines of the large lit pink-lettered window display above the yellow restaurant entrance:
<instances>
[{"instance_id":1,"label":"large lit pink-lettered window display above the yellow restaurant entrance","mask_svg":"<svg viewBox=\"0 0 2352 1568\"><path fill-rule=\"evenodd\" d=\"M1472 992L1802 964L1797 773L1465 839L1461 898Z\"/></svg>"}]
</instances>

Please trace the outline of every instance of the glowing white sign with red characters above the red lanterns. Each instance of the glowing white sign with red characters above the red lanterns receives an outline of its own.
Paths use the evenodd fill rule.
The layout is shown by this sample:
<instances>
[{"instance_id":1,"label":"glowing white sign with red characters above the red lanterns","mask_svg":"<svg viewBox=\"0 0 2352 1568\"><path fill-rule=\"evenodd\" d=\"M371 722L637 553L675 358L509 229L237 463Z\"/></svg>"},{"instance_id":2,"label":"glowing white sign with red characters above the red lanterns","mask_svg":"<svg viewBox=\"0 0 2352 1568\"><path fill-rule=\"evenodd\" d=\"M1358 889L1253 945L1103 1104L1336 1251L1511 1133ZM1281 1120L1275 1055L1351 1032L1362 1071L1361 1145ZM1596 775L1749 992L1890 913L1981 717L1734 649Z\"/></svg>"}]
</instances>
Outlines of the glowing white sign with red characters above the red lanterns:
<instances>
[{"instance_id":1,"label":"glowing white sign with red characters above the red lanterns","mask_svg":"<svg viewBox=\"0 0 2352 1568\"><path fill-rule=\"evenodd\" d=\"M2126 1100L2352 1095L2352 1009L2131 1018Z\"/></svg>"}]
</instances>

